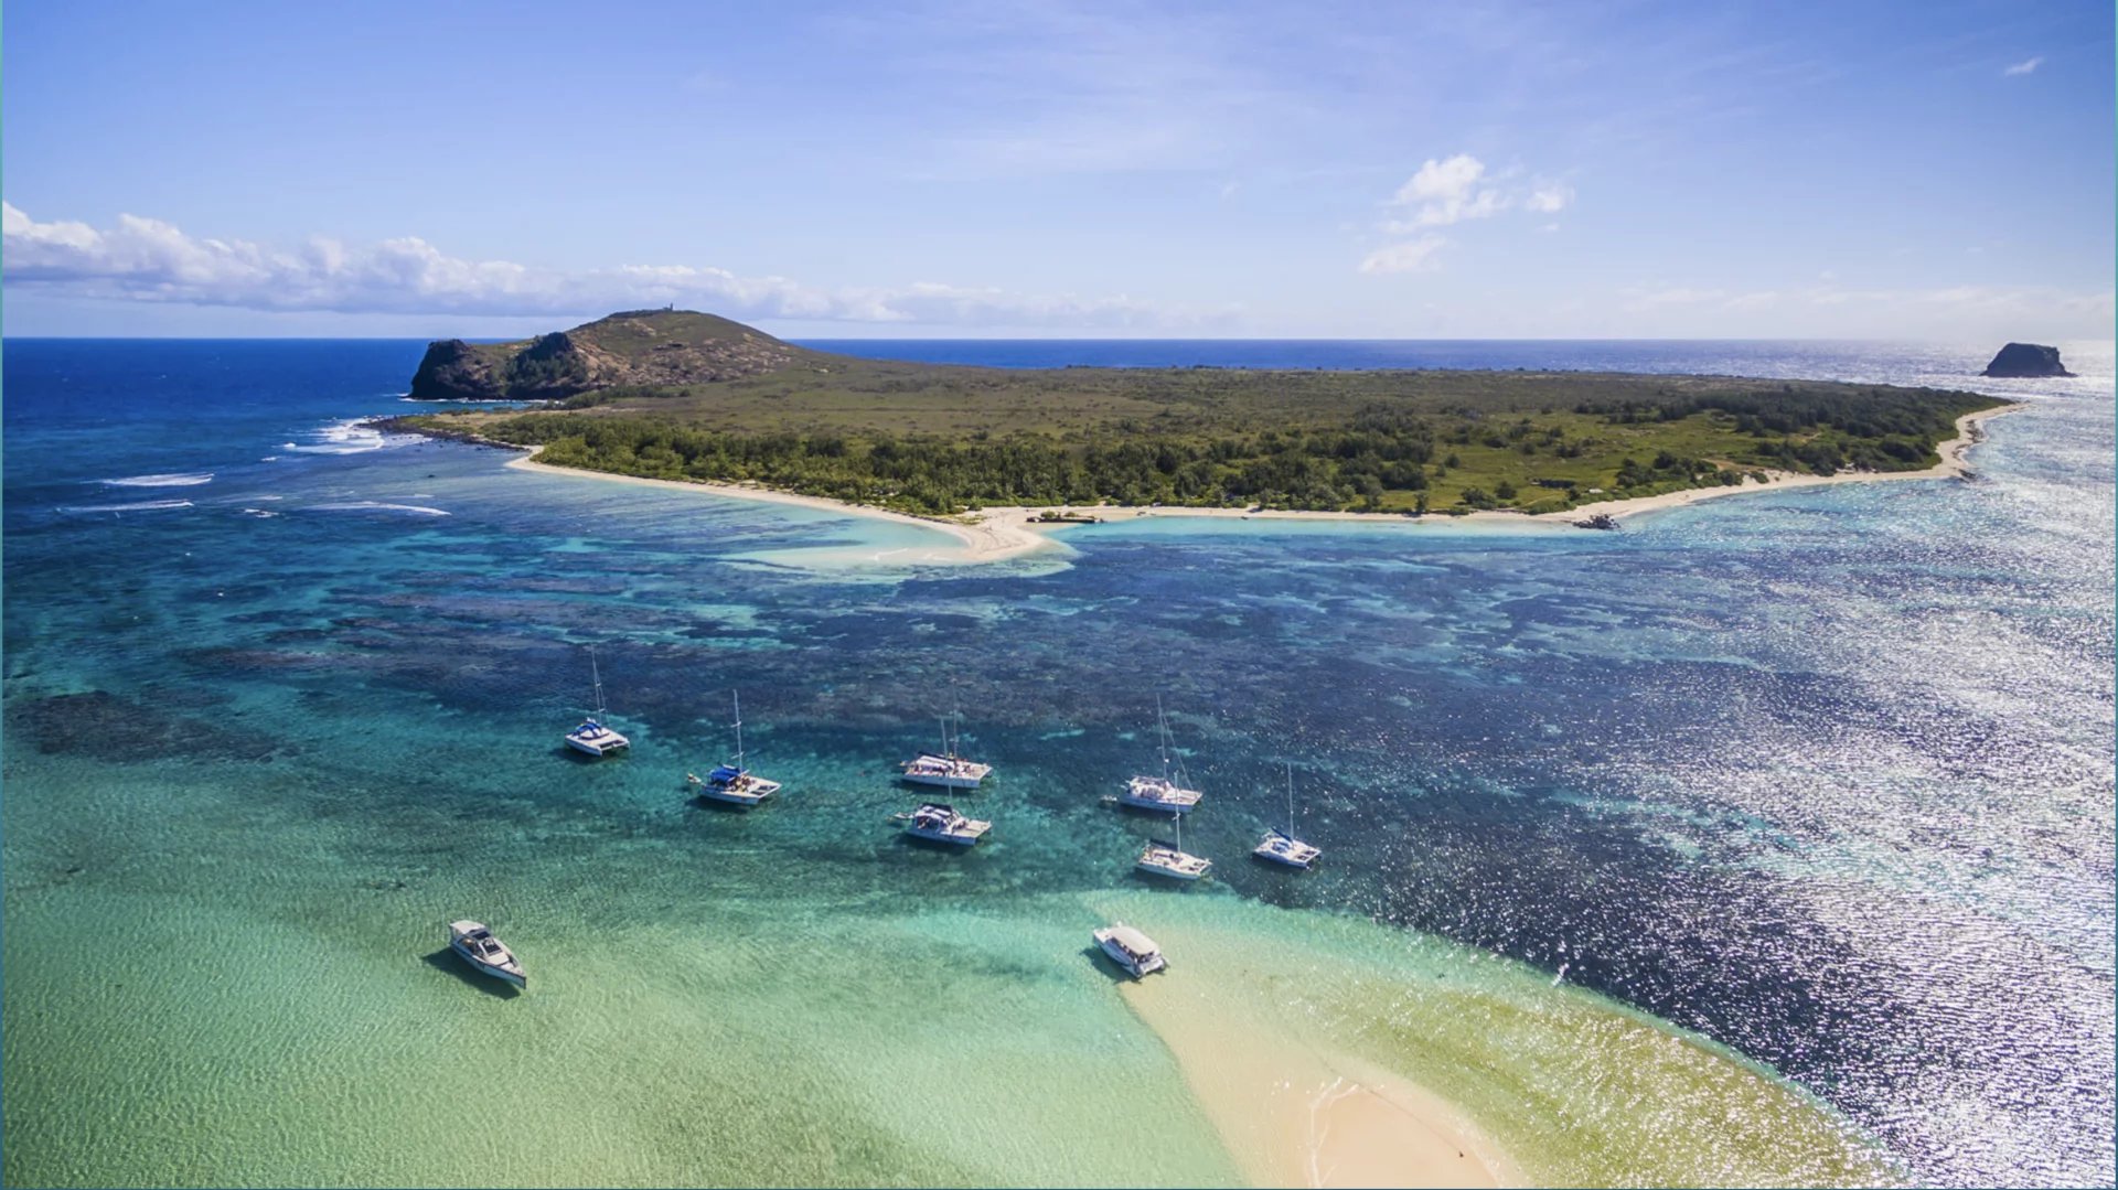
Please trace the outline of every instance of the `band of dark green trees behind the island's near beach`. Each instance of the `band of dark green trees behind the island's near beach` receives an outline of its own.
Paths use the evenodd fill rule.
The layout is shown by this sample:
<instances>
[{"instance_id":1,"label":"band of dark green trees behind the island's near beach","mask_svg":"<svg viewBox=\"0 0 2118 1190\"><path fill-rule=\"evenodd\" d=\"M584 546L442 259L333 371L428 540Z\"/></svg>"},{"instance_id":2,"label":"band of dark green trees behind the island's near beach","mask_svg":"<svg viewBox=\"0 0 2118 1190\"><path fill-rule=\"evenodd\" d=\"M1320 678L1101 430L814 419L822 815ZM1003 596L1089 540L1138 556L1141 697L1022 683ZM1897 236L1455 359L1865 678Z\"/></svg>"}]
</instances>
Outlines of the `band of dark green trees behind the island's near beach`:
<instances>
[{"instance_id":1,"label":"band of dark green trees behind the island's near beach","mask_svg":"<svg viewBox=\"0 0 2118 1190\"><path fill-rule=\"evenodd\" d=\"M1423 512L1430 500L1455 512L1737 485L1762 468L1915 470L1934 462L1934 443L1953 434L1959 415L1995 404L1849 387L1654 398L1538 417L1372 404L1334 426L1228 432L1137 419L1070 434L892 434L828 421L809 432L718 430L661 413L574 411L515 415L479 432L542 445L542 459L557 466L760 483L921 515L1106 502Z\"/></svg>"}]
</instances>

